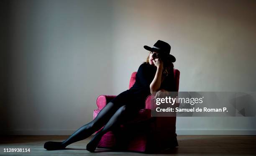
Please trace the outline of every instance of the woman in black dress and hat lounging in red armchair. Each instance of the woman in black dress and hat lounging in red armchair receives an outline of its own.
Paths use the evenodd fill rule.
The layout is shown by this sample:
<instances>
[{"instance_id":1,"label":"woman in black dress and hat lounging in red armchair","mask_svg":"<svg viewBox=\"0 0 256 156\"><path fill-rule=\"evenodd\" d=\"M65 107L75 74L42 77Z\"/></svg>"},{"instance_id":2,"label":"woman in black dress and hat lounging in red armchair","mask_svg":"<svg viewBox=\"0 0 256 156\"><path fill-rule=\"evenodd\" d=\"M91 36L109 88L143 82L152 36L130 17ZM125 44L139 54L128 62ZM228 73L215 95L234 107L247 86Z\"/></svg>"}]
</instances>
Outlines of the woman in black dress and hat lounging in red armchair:
<instances>
[{"instance_id":1,"label":"woman in black dress and hat lounging in red armchair","mask_svg":"<svg viewBox=\"0 0 256 156\"><path fill-rule=\"evenodd\" d=\"M150 51L150 54L146 62L139 66L133 87L111 100L94 120L79 128L67 140L46 142L44 148L47 150L64 149L71 143L88 138L104 126L86 146L88 151L93 152L105 133L128 121L128 119L131 120L131 115L135 117L138 110L145 107L144 103L148 95L159 90L174 91L172 62L176 59L169 54L171 46L158 40L152 48L149 46L144 46L144 48Z\"/></svg>"}]
</instances>

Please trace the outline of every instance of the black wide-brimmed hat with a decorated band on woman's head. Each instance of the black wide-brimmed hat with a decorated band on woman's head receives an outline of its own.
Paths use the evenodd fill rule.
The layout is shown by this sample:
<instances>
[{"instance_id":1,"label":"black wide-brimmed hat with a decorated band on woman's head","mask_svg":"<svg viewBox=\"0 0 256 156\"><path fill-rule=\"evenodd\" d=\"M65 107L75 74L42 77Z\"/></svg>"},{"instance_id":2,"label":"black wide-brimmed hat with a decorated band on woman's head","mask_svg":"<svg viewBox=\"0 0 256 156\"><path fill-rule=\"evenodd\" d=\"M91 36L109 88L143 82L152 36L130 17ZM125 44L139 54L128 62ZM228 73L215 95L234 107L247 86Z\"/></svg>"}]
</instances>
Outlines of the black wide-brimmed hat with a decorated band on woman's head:
<instances>
[{"instance_id":1,"label":"black wide-brimmed hat with a decorated band on woman's head","mask_svg":"<svg viewBox=\"0 0 256 156\"><path fill-rule=\"evenodd\" d=\"M153 47L144 46L144 48L148 51L158 52L162 56L166 56L172 62L176 61L175 57L170 54L171 46L164 41L158 40Z\"/></svg>"}]
</instances>

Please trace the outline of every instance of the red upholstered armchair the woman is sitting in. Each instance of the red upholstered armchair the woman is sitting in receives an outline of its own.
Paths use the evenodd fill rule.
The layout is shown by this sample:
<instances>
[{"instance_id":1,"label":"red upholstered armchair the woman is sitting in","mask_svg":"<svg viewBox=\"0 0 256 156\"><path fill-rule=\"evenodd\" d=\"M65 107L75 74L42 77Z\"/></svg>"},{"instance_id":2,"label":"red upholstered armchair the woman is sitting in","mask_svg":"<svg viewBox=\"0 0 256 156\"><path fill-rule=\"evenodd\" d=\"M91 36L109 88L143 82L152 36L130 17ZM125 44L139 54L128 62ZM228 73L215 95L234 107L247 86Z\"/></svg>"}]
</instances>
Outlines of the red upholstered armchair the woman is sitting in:
<instances>
[{"instance_id":1,"label":"red upholstered armchair the woman is sitting in","mask_svg":"<svg viewBox=\"0 0 256 156\"><path fill-rule=\"evenodd\" d=\"M133 72L131 75L129 89L135 83L136 73ZM178 92L179 70L177 69L174 69L174 81ZM97 98L98 109L94 110L93 118L114 97L116 95L100 95ZM145 109L140 110L135 119L102 136L97 148L151 153L178 146L176 117L151 117L152 98L154 95L147 97Z\"/></svg>"}]
</instances>

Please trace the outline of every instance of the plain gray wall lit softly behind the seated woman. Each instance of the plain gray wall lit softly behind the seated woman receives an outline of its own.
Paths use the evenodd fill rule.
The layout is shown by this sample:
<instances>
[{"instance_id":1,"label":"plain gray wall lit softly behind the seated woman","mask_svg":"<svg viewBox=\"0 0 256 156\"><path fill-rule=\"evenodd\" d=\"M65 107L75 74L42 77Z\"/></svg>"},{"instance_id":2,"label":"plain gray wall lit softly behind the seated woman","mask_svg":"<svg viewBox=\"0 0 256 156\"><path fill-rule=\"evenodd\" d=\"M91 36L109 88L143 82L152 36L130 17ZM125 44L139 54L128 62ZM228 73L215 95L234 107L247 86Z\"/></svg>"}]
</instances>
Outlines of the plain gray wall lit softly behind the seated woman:
<instances>
[{"instance_id":1,"label":"plain gray wall lit softly behind the seated woman","mask_svg":"<svg viewBox=\"0 0 256 156\"><path fill-rule=\"evenodd\" d=\"M148 55L143 46L158 39L172 46L180 91L256 91L253 0L17 0L6 5L10 42L3 133L71 134L92 120L98 95L128 89L131 73ZM256 134L255 122L179 117L177 134Z\"/></svg>"}]
</instances>

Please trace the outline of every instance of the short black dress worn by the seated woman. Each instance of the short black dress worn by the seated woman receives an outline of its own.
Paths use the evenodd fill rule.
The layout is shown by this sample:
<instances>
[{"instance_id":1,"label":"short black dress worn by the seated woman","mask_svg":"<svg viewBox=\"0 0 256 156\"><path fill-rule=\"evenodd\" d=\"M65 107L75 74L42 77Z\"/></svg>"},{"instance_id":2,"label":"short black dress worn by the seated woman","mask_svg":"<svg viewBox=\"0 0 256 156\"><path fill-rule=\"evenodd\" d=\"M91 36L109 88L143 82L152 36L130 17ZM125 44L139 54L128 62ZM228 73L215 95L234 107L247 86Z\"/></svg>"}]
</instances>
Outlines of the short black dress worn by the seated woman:
<instances>
[{"instance_id":1,"label":"short black dress worn by the seated woman","mask_svg":"<svg viewBox=\"0 0 256 156\"><path fill-rule=\"evenodd\" d=\"M138 111L145 108L146 97L150 95L150 84L153 81L156 74L156 66L152 66L149 63L143 63L139 66L136 74L136 80L129 90L126 90L116 96L110 102L115 105L126 105L130 110ZM162 89L167 91L173 90L173 72L168 74L164 81L161 83Z\"/></svg>"}]
</instances>

